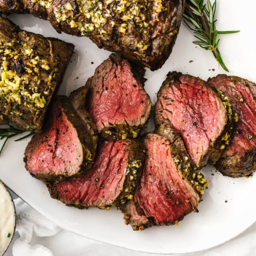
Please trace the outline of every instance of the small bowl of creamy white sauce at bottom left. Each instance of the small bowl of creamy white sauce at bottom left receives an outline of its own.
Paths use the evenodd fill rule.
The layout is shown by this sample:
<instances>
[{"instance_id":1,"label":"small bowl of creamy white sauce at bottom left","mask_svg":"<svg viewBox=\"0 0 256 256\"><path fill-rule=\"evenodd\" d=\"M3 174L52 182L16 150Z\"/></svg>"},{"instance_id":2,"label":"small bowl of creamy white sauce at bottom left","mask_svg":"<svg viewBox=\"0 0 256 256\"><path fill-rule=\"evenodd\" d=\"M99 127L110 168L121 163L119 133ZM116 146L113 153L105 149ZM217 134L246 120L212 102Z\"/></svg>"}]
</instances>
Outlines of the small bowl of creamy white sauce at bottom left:
<instances>
[{"instance_id":1,"label":"small bowl of creamy white sauce at bottom left","mask_svg":"<svg viewBox=\"0 0 256 256\"><path fill-rule=\"evenodd\" d=\"M12 242L16 227L15 206L9 190L0 180L0 256Z\"/></svg>"}]
</instances>

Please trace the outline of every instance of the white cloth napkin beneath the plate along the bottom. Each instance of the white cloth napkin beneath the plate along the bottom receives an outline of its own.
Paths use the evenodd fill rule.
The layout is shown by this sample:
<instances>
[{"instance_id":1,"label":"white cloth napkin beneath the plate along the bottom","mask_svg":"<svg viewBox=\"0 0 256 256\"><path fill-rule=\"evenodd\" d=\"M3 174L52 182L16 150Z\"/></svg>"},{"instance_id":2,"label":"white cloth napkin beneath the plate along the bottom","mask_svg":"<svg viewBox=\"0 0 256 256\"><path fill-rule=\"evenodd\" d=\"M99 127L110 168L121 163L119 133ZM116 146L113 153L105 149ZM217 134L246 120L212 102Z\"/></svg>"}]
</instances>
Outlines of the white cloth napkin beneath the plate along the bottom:
<instances>
[{"instance_id":1,"label":"white cloth napkin beneath the plate along the bottom","mask_svg":"<svg viewBox=\"0 0 256 256\"><path fill-rule=\"evenodd\" d=\"M103 244L62 230L20 198L14 200L17 225L5 256L150 256ZM241 219L242 221L242 219ZM159 254L157 254L159 256ZM211 250L173 256L256 256L256 224L236 239Z\"/></svg>"}]
</instances>

